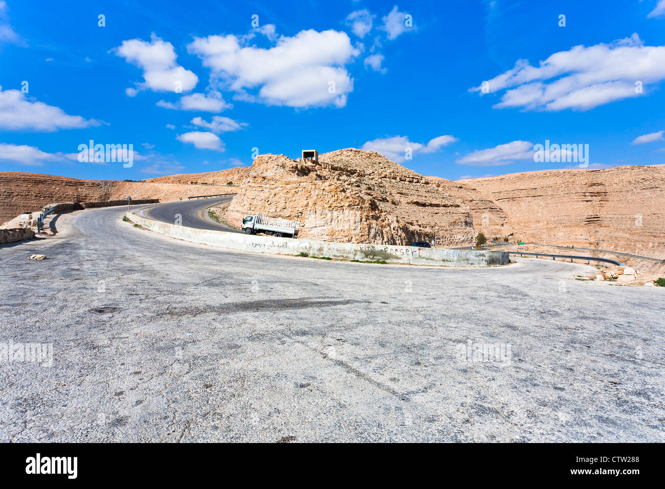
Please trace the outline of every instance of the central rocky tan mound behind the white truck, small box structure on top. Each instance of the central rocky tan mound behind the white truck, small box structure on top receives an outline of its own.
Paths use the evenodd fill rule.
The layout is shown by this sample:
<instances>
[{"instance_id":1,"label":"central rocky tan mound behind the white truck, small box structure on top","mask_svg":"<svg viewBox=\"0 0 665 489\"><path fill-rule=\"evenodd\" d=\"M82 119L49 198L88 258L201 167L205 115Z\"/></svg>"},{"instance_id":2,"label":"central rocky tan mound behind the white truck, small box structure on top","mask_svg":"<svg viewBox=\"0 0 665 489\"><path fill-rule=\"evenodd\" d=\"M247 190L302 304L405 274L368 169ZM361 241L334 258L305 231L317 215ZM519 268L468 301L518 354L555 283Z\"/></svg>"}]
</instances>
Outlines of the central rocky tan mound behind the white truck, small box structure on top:
<instances>
[{"instance_id":1,"label":"central rocky tan mound behind the white truck, small box structure on top","mask_svg":"<svg viewBox=\"0 0 665 489\"><path fill-rule=\"evenodd\" d=\"M344 243L472 243L471 211L440 183L374 151L348 148L295 161L259 155L225 214L298 219L299 237Z\"/></svg>"}]
</instances>

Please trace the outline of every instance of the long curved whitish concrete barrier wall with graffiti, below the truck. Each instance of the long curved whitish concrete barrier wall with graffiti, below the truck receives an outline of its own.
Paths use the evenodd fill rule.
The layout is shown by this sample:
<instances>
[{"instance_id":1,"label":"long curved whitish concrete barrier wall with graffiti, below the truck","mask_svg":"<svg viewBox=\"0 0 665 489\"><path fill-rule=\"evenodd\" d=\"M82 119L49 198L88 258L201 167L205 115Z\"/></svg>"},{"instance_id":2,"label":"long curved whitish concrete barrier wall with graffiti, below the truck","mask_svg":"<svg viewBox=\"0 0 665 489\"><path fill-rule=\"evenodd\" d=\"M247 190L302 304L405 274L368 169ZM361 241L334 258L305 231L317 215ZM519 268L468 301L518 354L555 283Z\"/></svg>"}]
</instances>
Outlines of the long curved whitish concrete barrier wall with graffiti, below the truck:
<instances>
[{"instance_id":1,"label":"long curved whitish concrete barrier wall with graffiti, below the truck","mask_svg":"<svg viewBox=\"0 0 665 489\"><path fill-rule=\"evenodd\" d=\"M134 223L168 237L235 250L292 255L307 252L311 256L329 256L343 260L386 260L390 263L414 265L491 266L509 262L508 253L505 251L444 250L414 248L414 246L356 245L307 239L273 238L177 226L139 217L133 213L129 213L127 216Z\"/></svg>"}]
</instances>

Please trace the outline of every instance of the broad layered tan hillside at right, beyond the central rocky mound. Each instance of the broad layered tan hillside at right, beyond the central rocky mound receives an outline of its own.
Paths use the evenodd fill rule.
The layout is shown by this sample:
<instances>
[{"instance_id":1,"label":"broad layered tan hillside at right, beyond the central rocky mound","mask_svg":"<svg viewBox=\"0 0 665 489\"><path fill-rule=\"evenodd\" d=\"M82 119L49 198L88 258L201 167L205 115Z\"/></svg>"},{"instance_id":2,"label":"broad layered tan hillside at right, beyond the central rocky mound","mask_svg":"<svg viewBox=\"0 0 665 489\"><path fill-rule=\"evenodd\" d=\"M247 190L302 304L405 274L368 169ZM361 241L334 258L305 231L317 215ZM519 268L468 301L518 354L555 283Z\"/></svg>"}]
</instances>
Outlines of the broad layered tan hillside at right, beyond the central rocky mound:
<instances>
[{"instance_id":1,"label":"broad layered tan hillside at right, beyond the central rocky mound","mask_svg":"<svg viewBox=\"0 0 665 489\"><path fill-rule=\"evenodd\" d=\"M665 252L665 165L529 171L456 183L501 207L526 241L654 250L656 257Z\"/></svg>"}]
</instances>

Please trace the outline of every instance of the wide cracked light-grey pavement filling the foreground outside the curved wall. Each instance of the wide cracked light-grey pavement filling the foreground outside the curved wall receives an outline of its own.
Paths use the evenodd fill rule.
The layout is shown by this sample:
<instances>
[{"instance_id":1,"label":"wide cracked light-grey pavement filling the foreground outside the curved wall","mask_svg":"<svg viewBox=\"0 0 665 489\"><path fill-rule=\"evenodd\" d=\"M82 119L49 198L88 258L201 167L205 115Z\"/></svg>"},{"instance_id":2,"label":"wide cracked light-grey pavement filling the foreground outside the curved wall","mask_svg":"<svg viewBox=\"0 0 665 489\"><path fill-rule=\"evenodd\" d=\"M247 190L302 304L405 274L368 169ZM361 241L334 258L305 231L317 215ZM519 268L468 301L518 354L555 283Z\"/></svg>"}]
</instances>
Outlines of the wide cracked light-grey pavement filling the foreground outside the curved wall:
<instances>
[{"instance_id":1,"label":"wide cracked light-grey pavement filling the foreground outside the curved wall","mask_svg":"<svg viewBox=\"0 0 665 489\"><path fill-rule=\"evenodd\" d=\"M0 362L0 441L664 440L663 288L234 252L122 215L0 246L0 342L53 344Z\"/></svg>"}]
</instances>

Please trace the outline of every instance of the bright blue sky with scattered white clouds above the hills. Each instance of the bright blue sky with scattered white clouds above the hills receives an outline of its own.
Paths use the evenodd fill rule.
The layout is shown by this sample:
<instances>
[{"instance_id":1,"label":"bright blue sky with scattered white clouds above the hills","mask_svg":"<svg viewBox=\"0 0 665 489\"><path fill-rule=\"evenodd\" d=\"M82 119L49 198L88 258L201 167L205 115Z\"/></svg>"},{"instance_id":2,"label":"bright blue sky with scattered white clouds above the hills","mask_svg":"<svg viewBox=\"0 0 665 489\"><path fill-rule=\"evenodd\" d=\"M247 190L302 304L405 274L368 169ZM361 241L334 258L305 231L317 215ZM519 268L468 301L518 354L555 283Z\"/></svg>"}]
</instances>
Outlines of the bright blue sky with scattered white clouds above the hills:
<instances>
[{"instance_id":1,"label":"bright blue sky with scattered white clouds above the hills","mask_svg":"<svg viewBox=\"0 0 665 489\"><path fill-rule=\"evenodd\" d=\"M588 144L590 168L660 164L665 0L0 0L0 86L0 171L344 147L448 179L579 167L535 162L546 140ZM132 166L78 161L89 140L132 144Z\"/></svg>"}]
</instances>

